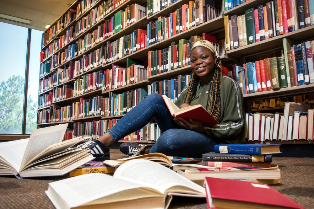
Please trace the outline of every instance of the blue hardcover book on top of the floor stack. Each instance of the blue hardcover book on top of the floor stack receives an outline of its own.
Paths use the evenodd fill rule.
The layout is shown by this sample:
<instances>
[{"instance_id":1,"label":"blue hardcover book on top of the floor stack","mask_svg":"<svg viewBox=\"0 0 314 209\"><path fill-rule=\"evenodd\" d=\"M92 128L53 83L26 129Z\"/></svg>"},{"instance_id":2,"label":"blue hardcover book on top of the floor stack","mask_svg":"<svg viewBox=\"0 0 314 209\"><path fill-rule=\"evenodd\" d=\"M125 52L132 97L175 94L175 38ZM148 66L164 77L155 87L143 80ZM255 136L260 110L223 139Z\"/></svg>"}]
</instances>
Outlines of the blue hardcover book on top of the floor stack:
<instances>
[{"instance_id":1,"label":"blue hardcover book on top of the floor stack","mask_svg":"<svg viewBox=\"0 0 314 209\"><path fill-rule=\"evenodd\" d=\"M216 153L266 155L280 152L280 144L216 144Z\"/></svg>"}]
</instances>

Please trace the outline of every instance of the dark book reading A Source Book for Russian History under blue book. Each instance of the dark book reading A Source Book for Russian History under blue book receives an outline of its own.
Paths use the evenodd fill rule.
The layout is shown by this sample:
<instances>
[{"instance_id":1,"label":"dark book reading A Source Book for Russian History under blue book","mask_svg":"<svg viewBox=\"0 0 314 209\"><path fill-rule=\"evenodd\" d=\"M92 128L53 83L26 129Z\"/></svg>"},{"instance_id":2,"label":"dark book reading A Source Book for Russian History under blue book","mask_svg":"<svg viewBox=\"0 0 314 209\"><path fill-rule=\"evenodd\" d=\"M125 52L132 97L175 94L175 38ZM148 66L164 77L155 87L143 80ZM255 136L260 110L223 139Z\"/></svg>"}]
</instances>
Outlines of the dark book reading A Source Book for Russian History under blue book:
<instances>
[{"instance_id":1,"label":"dark book reading A Source Book for Russian History under blue book","mask_svg":"<svg viewBox=\"0 0 314 209\"><path fill-rule=\"evenodd\" d=\"M216 150L215 150L216 152ZM205 153L203 161L208 162L272 162L272 155L250 155L231 153Z\"/></svg>"}]
</instances>

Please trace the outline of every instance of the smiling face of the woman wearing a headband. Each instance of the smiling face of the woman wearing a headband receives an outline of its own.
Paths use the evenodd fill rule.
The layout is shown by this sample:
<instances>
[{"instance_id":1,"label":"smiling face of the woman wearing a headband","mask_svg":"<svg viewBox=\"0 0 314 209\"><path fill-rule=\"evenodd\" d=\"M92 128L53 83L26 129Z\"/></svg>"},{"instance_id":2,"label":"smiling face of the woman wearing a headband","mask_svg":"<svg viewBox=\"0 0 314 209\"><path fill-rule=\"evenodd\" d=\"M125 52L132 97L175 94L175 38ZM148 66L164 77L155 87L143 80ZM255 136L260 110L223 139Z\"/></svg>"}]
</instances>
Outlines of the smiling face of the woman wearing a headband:
<instances>
[{"instance_id":1,"label":"smiling face of the woman wearing a headband","mask_svg":"<svg viewBox=\"0 0 314 209\"><path fill-rule=\"evenodd\" d=\"M212 51L203 46L197 46L191 51L191 68L201 81L210 81L213 77L217 60L213 55Z\"/></svg>"}]
</instances>

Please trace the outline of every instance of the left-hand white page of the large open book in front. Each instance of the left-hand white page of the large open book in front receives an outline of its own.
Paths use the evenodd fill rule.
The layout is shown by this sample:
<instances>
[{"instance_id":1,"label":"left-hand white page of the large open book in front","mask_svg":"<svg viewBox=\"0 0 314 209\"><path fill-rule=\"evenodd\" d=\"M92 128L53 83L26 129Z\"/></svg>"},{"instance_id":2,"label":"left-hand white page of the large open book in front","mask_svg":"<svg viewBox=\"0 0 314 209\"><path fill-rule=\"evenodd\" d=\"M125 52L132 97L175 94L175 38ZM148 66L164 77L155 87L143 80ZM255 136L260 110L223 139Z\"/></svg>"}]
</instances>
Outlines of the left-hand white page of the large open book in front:
<instances>
[{"instance_id":1,"label":"left-hand white page of the large open book in front","mask_svg":"<svg viewBox=\"0 0 314 209\"><path fill-rule=\"evenodd\" d=\"M49 183L49 187L55 190L62 201L72 208L123 190L143 186L106 174L84 174ZM117 197L124 198L123 196Z\"/></svg>"}]
</instances>

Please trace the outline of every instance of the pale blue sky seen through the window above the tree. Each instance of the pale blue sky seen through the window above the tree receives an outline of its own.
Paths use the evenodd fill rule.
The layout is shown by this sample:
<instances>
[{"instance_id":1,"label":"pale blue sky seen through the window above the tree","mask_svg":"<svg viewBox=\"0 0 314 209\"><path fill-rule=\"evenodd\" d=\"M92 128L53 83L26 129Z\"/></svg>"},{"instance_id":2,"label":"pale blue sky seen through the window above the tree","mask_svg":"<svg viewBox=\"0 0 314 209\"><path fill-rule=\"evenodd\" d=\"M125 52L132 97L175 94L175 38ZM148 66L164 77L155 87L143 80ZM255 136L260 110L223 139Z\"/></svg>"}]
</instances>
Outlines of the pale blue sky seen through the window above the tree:
<instances>
[{"instance_id":1,"label":"pale blue sky seen through the window above the tree","mask_svg":"<svg viewBox=\"0 0 314 209\"><path fill-rule=\"evenodd\" d=\"M0 22L0 81L6 81L12 75L25 77L26 47L28 29L12 24ZM30 48L30 70L28 95L37 101L41 34L43 32L32 29ZM21 84L24 88L24 83Z\"/></svg>"}]
</instances>

